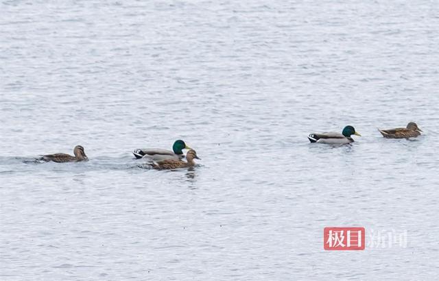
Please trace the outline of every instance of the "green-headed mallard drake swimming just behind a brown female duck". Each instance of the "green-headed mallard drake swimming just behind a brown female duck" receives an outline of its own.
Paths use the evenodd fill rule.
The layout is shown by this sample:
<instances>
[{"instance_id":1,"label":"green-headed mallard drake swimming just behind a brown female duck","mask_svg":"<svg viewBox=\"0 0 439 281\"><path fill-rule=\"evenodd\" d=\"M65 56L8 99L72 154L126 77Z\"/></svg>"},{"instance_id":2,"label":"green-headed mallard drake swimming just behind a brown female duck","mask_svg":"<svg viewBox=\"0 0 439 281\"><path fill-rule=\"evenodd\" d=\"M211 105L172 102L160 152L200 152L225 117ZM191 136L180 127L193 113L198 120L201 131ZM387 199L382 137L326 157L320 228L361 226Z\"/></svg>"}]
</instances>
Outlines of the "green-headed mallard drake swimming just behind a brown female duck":
<instances>
[{"instance_id":1,"label":"green-headed mallard drake swimming just behind a brown female duck","mask_svg":"<svg viewBox=\"0 0 439 281\"><path fill-rule=\"evenodd\" d=\"M188 147L186 143L182 140L176 140L174 145L172 146L172 150L167 149L135 149L132 154L139 158L148 158L152 161L161 161L161 160L180 160L185 158L183 154L183 149L191 149Z\"/></svg>"}]
</instances>

